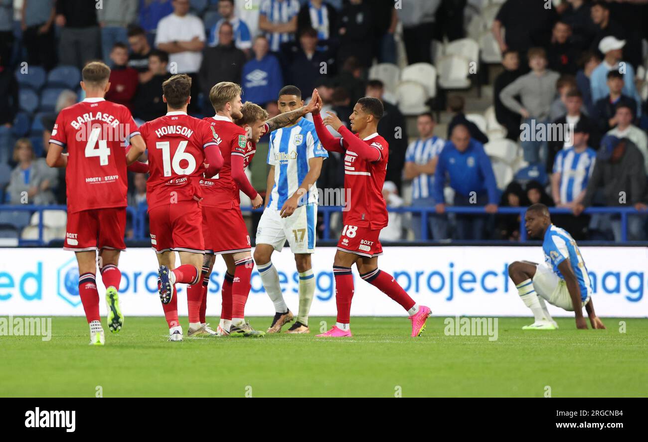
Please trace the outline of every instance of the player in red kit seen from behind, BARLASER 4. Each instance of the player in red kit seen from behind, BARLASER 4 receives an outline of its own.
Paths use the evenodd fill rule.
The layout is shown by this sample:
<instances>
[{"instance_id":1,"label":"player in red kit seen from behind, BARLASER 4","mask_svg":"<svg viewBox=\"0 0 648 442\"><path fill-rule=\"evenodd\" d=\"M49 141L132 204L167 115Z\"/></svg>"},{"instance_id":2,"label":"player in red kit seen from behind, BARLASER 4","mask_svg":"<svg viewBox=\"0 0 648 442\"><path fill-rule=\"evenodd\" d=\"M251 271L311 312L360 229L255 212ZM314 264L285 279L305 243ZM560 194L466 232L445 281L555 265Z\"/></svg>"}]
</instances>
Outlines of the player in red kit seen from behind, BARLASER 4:
<instances>
[{"instance_id":1,"label":"player in red kit seen from behind, BARLASER 4","mask_svg":"<svg viewBox=\"0 0 648 442\"><path fill-rule=\"evenodd\" d=\"M49 167L65 167L67 227L65 250L76 253L79 296L90 325L91 345L104 345L99 317L97 264L106 286L108 328L119 332L124 316L119 308L120 251L126 249L127 165L146 146L126 106L106 101L110 68L90 62L82 71L86 99L60 111L47 151ZM124 141L130 141L126 151ZM67 147L67 154L63 154ZM98 257L97 257L98 250Z\"/></svg>"}]
</instances>

